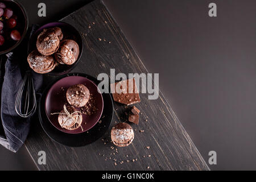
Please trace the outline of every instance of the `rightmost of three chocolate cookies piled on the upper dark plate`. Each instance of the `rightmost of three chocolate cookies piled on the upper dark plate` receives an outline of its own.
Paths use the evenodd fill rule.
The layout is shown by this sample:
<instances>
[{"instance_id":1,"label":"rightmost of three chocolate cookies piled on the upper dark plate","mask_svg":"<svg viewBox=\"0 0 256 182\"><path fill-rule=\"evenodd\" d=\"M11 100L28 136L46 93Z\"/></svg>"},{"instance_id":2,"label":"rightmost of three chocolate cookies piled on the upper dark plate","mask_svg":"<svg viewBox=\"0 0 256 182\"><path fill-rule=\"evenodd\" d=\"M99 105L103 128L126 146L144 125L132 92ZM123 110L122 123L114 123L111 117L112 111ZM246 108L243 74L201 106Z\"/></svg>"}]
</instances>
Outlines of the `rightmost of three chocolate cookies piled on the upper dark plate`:
<instances>
[{"instance_id":1,"label":"rightmost of three chocolate cookies piled on the upper dark plate","mask_svg":"<svg viewBox=\"0 0 256 182\"><path fill-rule=\"evenodd\" d=\"M63 40L55 59L60 64L74 64L79 56L79 45L74 40Z\"/></svg>"}]
</instances>

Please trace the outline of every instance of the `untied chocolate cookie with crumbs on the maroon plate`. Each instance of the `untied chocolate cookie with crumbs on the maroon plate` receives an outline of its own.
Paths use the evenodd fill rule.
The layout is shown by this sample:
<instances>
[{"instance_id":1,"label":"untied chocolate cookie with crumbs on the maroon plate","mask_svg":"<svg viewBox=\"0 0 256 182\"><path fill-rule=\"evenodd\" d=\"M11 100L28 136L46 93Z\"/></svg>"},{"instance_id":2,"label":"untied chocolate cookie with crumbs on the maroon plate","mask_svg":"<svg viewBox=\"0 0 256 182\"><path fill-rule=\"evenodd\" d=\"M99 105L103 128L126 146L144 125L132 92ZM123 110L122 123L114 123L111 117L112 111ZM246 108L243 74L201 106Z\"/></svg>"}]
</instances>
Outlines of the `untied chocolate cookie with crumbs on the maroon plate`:
<instances>
[{"instance_id":1,"label":"untied chocolate cookie with crumbs on the maroon plate","mask_svg":"<svg viewBox=\"0 0 256 182\"><path fill-rule=\"evenodd\" d=\"M86 86L77 84L68 88L66 97L70 105L82 107L85 106L89 101L90 92Z\"/></svg>"}]
</instances>

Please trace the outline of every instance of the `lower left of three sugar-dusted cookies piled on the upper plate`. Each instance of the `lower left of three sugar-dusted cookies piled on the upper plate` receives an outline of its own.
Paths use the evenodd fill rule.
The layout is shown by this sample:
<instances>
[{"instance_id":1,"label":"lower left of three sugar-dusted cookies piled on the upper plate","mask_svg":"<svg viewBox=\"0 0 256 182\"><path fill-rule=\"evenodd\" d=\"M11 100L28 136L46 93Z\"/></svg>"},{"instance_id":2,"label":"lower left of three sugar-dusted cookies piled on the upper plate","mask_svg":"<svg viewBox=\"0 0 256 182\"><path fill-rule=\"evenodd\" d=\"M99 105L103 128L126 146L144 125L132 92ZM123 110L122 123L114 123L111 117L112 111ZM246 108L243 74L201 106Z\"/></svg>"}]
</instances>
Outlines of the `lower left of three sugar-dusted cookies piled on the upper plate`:
<instances>
[{"instance_id":1,"label":"lower left of three sugar-dusted cookies piled on the upper plate","mask_svg":"<svg viewBox=\"0 0 256 182\"><path fill-rule=\"evenodd\" d=\"M36 73L48 73L51 72L56 62L52 56L44 56L38 51L32 51L27 57L28 64Z\"/></svg>"}]
</instances>

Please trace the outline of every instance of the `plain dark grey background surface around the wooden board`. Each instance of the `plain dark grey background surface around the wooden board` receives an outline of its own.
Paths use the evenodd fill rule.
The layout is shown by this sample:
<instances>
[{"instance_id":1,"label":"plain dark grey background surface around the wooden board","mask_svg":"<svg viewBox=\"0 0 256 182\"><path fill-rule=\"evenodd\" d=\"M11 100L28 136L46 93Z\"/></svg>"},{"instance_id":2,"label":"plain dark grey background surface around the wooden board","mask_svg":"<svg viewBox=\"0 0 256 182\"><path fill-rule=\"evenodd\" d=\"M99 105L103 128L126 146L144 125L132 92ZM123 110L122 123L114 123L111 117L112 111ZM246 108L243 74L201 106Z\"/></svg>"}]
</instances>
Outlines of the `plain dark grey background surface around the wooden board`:
<instances>
[{"instance_id":1,"label":"plain dark grey background surface around the wooden board","mask_svg":"<svg viewBox=\"0 0 256 182\"><path fill-rule=\"evenodd\" d=\"M87 1L20 2L31 23L46 23ZM39 2L46 18L36 16ZM104 2L148 71L160 73L160 89L204 159L217 152L209 167L256 169L256 1ZM210 2L217 18L208 16ZM27 167L26 151L2 159L1 147L0 154L2 168L10 159Z\"/></svg>"}]
</instances>

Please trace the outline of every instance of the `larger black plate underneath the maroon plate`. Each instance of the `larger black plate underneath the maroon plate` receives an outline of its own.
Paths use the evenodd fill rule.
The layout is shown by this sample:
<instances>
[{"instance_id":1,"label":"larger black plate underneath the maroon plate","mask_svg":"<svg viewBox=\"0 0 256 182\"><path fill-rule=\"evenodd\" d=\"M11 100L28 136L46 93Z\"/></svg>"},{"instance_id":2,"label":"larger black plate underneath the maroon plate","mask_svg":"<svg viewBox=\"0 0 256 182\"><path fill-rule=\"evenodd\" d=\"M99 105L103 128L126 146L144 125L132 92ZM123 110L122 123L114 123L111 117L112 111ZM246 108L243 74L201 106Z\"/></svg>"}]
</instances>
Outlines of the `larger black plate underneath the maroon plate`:
<instances>
[{"instance_id":1,"label":"larger black plate underneath the maroon plate","mask_svg":"<svg viewBox=\"0 0 256 182\"><path fill-rule=\"evenodd\" d=\"M54 127L49 121L49 119L47 118L46 110L45 110L45 101L46 101L48 90L51 88L51 86L61 78L68 77L68 76L82 76L93 81L94 84L96 85L100 83L100 81L98 81L97 78L86 75L84 73L69 73L67 75L58 77L51 84L49 84L44 90L40 98L38 114L39 114L40 124L49 138L65 146L81 147L81 146L85 146L86 144L95 142L97 139L102 137L102 135L104 135L106 131L108 131L110 123L112 122L113 114L114 114L113 101L110 93L102 94L102 97L104 100L104 109L100 118L101 122L98 122L95 126L92 127L92 129L80 134L63 133L62 131L56 129L56 127Z\"/></svg>"}]
</instances>

